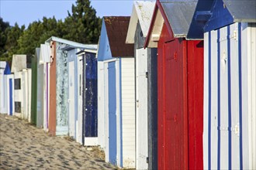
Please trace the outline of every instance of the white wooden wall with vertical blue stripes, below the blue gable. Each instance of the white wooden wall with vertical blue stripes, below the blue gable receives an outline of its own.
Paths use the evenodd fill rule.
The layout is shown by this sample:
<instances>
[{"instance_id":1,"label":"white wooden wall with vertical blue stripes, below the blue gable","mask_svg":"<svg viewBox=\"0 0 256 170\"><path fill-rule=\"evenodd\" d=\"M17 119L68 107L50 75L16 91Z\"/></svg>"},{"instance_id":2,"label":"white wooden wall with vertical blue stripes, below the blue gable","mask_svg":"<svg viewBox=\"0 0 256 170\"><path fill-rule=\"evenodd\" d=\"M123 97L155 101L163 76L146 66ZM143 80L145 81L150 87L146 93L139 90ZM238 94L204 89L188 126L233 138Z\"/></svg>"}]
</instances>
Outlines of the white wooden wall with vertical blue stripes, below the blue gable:
<instances>
[{"instance_id":1,"label":"white wooden wall with vertical blue stripes, below the blue gable","mask_svg":"<svg viewBox=\"0 0 256 170\"><path fill-rule=\"evenodd\" d=\"M206 32L204 168L255 168L255 27Z\"/></svg>"}]
</instances>

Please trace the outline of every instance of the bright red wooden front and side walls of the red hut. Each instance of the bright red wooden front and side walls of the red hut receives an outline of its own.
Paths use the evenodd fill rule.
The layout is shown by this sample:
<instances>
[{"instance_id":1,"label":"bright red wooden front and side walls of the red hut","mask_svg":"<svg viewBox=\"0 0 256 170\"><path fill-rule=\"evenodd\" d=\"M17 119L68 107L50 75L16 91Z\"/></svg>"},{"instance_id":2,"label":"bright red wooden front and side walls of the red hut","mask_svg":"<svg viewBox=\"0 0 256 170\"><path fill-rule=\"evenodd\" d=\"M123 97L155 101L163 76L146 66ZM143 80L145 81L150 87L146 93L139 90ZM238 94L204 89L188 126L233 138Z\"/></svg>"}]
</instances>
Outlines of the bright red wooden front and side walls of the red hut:
<instances>
[{"instance_id":1,"label":"bright red wooden front and side walls of the red hut","mask_svg":"<svg viewBox=\"0 0 256 170\"><path fill-rule=\"evenodd\" d=\"M202 169L202 41L158 42L158 168Z\"/></svg>"}]
</instances>

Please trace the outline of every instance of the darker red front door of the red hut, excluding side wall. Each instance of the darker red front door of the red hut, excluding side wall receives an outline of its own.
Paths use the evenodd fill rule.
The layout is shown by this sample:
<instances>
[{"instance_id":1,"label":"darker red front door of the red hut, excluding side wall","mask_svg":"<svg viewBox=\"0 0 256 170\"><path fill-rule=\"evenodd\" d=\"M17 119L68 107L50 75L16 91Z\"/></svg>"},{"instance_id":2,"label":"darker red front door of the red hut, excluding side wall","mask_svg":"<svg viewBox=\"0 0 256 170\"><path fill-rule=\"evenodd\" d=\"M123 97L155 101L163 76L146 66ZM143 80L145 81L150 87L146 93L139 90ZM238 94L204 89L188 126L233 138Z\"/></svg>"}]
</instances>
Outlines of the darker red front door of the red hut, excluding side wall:
<instances>
[{"instance_id":1,"label":"darker red front door of the red hut, excluding side wall","mask_svg":"<svg viewBox=\"0 0 256 170\"><path fill-rule=\"evenodd\" d=\"M184 68L182 42L164 43L162 64L162 126L164 168L185 169Z\"/></svg>"}]
</instances>

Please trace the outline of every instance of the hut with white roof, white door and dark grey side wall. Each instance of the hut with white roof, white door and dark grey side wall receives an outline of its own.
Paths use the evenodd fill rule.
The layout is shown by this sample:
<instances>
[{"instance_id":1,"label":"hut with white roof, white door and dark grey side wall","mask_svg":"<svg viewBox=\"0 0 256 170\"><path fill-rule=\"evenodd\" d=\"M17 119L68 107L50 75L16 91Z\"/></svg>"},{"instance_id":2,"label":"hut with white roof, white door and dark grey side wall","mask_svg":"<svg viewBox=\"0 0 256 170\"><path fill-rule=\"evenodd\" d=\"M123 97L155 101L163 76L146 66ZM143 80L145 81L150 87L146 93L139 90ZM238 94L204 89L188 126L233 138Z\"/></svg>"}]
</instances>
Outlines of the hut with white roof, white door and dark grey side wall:
<instances>
[{"instance_id":1,"label":"hut with white roof, white door and dark grey side wall","mask_svg":"<svg viewBox=\"0 0 256 170\"><path fill-rule=\"evenodd\" d=\"M144 49L154 5L134 2L126 36L135 48L137 169L157 169L157 49Z\"/></svg>"}]
</instances>

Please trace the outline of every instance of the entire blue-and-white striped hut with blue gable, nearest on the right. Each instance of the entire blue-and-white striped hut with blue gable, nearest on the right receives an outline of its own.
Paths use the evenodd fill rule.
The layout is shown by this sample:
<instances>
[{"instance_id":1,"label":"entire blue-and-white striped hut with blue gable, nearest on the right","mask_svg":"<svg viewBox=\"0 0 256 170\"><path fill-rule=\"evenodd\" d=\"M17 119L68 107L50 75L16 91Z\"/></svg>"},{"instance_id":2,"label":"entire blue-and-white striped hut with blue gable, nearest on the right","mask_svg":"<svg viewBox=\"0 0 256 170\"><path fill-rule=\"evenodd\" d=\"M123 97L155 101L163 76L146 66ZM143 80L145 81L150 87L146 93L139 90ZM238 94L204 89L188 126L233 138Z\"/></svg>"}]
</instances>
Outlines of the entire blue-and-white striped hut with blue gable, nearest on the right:
<instances>
[{"instance_id":1,"label":"entire blue-and-white striped hut with blue gable, nearest on the right","mask_svg":"<svg viewBox=\"0 0 256 170\"><path fill-rule=\"evenodd\" d=\"M204 39L203 163L256 169L256 1L199 0L189 39Z\"/></svg>"}]
</instances>

